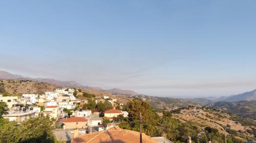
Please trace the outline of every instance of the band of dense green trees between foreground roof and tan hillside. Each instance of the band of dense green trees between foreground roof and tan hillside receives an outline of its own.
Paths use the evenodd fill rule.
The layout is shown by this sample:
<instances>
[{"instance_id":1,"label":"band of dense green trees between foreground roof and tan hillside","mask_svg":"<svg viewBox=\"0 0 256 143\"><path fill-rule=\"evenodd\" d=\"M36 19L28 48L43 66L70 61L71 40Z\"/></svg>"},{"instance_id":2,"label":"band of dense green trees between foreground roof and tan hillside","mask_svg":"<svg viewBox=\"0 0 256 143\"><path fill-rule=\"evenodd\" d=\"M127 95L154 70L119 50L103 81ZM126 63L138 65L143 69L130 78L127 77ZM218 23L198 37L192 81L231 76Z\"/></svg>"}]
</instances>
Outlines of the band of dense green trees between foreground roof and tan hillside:
<instances>
[{"instance_id":1,"label":"band of dense green trees between foreground roof and tan hillside","mask_svg":"<svg viewBox=\"0 0 256 143\"><path fill-rule=\"evenodd\" d=\"M195 122L181 122L172 117L172 113L163 112L163 117L159 117L152 106L146 101L133 100L127 102L126 110L129 112L128 118L119 117L120 128L139 131L139 113L142 114L142 131L149 136L165 136L174 142L186 142L191 136L194 142L224 143L224 135L217 129L207 127L201 129ZM243 142L234 136L229 136L228 143Z\"/></svg>"}]
</instances>

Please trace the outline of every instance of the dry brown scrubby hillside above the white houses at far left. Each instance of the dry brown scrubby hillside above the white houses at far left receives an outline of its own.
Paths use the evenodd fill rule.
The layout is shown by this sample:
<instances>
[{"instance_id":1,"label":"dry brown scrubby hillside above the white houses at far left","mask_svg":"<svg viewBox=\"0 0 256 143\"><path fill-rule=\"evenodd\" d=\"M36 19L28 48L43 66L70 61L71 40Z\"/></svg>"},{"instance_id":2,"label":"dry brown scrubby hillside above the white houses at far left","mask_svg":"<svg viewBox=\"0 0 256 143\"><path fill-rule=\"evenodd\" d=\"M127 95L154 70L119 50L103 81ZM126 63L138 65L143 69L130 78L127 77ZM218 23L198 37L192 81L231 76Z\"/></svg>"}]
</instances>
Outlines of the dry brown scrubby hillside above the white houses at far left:
<instances>
[{"instance_id":1,"label":"dry brown scrubby hillside above the white houses at far left","mask_svg":"<svg viewBox=\"0 0 256 143\"><path fill-rule=\"evenodd\" d=\"M0 80L0 93L9 94L44 94L54 91L57 87L44 82L31 80Z\"/></svg>"}]
</instances>

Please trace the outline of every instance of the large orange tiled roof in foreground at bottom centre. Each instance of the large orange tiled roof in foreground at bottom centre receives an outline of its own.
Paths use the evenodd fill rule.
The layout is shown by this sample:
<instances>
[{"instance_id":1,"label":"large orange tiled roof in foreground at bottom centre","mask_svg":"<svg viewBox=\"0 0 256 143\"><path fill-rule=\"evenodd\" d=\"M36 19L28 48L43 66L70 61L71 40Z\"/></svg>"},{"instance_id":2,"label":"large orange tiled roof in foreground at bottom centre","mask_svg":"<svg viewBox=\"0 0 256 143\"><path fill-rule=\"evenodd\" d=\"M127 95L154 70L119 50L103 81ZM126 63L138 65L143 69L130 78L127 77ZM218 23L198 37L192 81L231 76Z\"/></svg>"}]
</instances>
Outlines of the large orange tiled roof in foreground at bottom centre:
<instances>
[{"instance_id":1,"label":"large orange tiled roof in foreground at bottom centre","mask_svg":"<svg viewBox=\"0 0 256 143\"><path fill-rule=\"evenodd\" d=\"M123 130L115 126L106 131L81 135L72 139L71 143L137 143L140 142L140 133L131 130ZM142 134L143 143L157 143L149 136Z\"/></svg>"}]
</instances>

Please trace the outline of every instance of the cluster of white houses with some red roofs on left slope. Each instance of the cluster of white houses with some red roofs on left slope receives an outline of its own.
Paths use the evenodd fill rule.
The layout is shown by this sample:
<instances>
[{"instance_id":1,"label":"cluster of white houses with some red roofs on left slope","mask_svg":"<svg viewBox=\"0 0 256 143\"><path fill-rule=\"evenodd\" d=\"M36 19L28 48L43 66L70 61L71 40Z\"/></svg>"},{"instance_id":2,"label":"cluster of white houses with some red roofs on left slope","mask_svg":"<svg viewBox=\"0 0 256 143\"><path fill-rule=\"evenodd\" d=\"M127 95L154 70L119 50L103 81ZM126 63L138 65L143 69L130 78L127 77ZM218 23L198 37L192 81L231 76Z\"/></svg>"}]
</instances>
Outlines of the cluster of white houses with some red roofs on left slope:
<instances>
[{"instance_id":1,"label":"cluster of white houses with some red roofs on left slope","mask_svg":"<svg viewBox=\"0 0 256 143\"><path fill-rule=\"evenodd\" d=\"M77 135L98 132L115 126L114 119L119 115L128 116L127 111L121 110L124 104L117 99L72 88L56 88L44 94L2 94L0 102L8 105L8 114L3 118L17 124L39 114L55 120L54 133L63 141L69 139L66 137L67 130L73 138L74 129L79 130ZM88 109L87 105L91 104L99 106L98 110Z\"/></svg>"}]
</instances>

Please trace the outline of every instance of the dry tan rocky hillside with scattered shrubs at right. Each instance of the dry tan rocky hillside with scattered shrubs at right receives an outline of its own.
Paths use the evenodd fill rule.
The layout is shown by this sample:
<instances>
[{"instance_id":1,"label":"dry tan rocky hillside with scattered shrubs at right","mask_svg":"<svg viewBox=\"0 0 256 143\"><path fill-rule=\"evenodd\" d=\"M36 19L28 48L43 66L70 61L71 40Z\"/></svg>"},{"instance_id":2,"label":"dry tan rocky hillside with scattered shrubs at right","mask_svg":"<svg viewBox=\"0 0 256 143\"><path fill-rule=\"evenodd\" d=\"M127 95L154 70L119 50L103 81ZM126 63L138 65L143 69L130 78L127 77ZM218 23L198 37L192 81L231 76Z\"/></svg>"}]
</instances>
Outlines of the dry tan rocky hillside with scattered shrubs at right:
<instances>
[{"instance_id":1,"label":"dry tan rocky hillside with scattered shrubs at right","mask_svg":"<svg viewBox=\"0 0 256 143\"><path fill-rule=\"evenodd\" d=\"M179 113L174 113L173 117L181 122L189 122L201 129L210 126L224 134L224 128L226 128L227 135L232 134L243 140L255 140L255 122L244 120L225 111L208 107L187 107L179 109Z\"/></svg>"}]
</instances>

